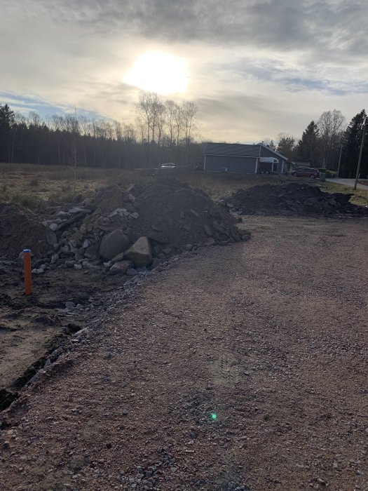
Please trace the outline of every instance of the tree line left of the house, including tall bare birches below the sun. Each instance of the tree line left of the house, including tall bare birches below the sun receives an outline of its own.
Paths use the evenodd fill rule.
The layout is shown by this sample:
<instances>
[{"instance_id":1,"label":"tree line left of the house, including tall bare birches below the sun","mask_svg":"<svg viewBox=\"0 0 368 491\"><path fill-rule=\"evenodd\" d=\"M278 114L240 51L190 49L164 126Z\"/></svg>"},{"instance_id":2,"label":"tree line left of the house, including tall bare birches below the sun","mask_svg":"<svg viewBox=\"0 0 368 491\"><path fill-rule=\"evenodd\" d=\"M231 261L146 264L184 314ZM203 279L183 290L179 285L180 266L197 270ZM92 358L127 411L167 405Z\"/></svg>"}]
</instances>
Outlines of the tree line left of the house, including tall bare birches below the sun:
<instances>
[{"instance_id":1,"label":"tree line left of the house, including tall bare birches below the sun","mask_svg":"<svg viewBox=\"0 0 368 491\"><path fill-rule=\"evenodd\" d=\"M144 93L135 124L65 114L42 119L0 105L0 162L86 167L197 166L203 145L194 140L197 108Z\"/></svg>"}]
</instances>

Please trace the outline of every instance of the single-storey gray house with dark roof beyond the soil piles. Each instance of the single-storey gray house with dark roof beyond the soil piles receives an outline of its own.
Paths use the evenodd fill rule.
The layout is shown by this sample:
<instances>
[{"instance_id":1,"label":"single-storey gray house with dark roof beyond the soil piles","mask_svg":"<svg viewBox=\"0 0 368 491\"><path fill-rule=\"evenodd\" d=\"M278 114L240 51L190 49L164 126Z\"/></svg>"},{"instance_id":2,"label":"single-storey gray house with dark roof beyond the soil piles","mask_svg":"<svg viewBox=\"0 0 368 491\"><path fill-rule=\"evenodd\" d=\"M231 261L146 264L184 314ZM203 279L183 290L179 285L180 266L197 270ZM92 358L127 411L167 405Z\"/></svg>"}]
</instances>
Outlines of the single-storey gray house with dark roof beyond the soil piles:
<instances>
[{"instance_id":1,"label":"single-storey gray house with dark roof beyond the soil piles","mask_svg":"<svg viewBox=\"0 0 368 491\"><path fill-rule=\"evenodd\" d=\"M205 147L205 172L287 174L291 169L292 162L263 143L207 143Z\"/></svg>"}]
</instances>

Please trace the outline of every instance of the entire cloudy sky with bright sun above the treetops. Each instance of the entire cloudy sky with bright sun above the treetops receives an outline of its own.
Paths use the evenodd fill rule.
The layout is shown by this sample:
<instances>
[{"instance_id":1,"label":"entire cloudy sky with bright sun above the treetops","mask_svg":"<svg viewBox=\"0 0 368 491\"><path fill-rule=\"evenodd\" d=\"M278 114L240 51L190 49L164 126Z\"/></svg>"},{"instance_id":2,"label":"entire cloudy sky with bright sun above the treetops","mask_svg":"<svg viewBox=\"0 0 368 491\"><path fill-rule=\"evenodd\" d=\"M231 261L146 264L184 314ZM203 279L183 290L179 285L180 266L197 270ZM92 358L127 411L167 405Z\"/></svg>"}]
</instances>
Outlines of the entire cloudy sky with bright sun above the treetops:
<instances>
[{"instance_id":1,"label":"entire cloudy sky with bright sun above the treetops","mask_svg":"<svg viewBox=\"0 0 368 491\"><path fill-rule=\"evenodd\" d=\"M368 109L367 0L0 0L0 104L129 123L142 90L200 140L300 137Z\"/></svg>"}]
</instances>

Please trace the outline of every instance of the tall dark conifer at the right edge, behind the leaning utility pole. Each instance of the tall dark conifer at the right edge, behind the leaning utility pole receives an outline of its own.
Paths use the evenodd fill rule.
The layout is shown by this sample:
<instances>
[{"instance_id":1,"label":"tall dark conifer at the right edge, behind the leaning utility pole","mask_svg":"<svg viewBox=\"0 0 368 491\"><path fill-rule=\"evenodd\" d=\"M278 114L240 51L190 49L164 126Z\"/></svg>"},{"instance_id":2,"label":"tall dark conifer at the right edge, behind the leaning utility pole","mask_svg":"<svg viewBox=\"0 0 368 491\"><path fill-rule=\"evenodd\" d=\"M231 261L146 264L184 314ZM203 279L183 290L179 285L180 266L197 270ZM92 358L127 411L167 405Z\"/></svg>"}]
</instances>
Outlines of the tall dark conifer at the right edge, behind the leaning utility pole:
<instances>
[{"instance_id":1,"label":"tall dark conifer at the right edge, behind the leaning utility pole","mask_svg":"<svg viewBox=\"0 0 368 491\"><path fill-rule=\"evenodd\" d=\"M367 114L364 109L358 112L350 121L343 135L343 153L341 155L340 175L352 179L357 172L357 161L359 159L360 144L362 142L362 131ZM368 174L368 144L364 144L360 175Z\"/></svg>"}]
</instances>

